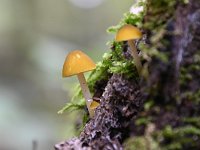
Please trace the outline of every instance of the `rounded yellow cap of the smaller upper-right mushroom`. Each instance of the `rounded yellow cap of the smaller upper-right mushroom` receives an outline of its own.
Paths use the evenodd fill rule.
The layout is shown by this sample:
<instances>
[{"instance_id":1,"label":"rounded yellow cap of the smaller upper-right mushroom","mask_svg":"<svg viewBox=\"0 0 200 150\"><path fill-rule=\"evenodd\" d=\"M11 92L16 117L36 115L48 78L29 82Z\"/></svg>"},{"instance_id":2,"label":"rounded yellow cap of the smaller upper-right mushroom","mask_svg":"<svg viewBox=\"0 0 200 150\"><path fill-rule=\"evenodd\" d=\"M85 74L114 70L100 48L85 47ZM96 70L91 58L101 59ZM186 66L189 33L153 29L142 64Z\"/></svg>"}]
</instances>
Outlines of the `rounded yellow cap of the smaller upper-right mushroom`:
<instances>
[{"instance_id":1,"label":"rounded yellow cap of the smaller upper-right mushroom","mask_svg":"<svg viewBox=\"0 0 200 150\"><path fill-rule=\"evenodd\" d=\"M141 37L142 37L142 33L140 32L138 28L136 28L133 25L127 24L119 29L115 40L117 42L120 42L120 41L140 39Z\"/></svg>"}]
</instances>

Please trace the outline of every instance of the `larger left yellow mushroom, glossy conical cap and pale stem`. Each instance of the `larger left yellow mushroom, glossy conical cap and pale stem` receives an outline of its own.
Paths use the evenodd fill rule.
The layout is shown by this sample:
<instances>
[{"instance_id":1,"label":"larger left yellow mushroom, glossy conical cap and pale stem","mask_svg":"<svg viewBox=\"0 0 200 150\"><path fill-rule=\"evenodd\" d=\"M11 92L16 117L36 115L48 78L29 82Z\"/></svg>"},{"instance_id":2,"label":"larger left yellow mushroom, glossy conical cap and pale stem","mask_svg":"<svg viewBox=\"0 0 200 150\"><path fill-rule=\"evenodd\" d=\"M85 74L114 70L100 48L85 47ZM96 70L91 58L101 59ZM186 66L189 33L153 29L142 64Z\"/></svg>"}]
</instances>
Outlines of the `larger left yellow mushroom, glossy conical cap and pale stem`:
<instances>
[{"instance_id":1,"label":"larger left yellow mushroom, glossy conical cap and pale stem","mask_svg":"<svg viewBox=\"0 0 200 150\"><path fill-rule=\"evenodd\" d=\"M63 77L77 75L90 117L94 114L94 110L90 109L93 100L83 73L95 68L96 65L90 57L80 50L74 50L67 55L62 70Z\"/></svg>"}]
</instances>

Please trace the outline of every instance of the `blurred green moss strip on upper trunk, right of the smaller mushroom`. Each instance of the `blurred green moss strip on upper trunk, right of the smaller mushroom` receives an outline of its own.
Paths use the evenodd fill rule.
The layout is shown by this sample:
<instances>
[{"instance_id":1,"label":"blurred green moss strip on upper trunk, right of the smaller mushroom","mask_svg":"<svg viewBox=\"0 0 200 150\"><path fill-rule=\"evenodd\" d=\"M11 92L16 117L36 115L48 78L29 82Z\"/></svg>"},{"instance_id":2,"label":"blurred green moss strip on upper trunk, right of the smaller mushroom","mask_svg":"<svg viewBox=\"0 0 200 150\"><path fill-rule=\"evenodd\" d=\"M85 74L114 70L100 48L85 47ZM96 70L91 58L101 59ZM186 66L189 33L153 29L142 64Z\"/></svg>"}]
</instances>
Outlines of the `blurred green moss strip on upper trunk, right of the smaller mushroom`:
<instances>
[{"instance_id":1,"label":"blurred green moss strip on upper trunk, right of the smaller mushroom","mask_svg":"<svg viewBox=\"0 0 200 150\"><path fill-rule=\"evenodd\" d=\"M168 51L161 52L161 49L166 49L170 44L166 35L175 34L173 31L168 31L166 28L174 18L174 12L178 3L185 3L185 1L178 0L148 0L147 13L145 16L145 23L142 25L147 31L151 32L149 39L150 45L140 43L139 47L144 55L150 58L156 57L167 63L169 60Z\"/></svg>"}]
</instances>

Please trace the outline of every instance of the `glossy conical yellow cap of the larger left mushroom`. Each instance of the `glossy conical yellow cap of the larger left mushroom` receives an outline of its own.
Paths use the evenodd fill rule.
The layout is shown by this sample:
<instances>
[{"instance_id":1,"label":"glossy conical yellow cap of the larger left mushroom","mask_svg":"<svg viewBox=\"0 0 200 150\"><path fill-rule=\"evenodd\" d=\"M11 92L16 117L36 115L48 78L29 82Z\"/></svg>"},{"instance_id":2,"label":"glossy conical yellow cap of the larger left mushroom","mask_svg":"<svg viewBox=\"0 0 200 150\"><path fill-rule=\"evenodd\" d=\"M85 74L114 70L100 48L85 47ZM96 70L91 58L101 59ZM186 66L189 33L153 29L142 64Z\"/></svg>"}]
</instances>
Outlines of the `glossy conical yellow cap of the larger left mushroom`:
<instances>
[{"instance_id":1,"label":"glossy conical yellow cap of the larger left mushroom","mask_svg":"<svg viewBox=\"0 0 200 150\"><path fill-rule=\"evenodd\" d=\"M64 62L62 76L69 77L96 68L92 59L80 50L70 52Z\"/></svg>"}]
</instances>

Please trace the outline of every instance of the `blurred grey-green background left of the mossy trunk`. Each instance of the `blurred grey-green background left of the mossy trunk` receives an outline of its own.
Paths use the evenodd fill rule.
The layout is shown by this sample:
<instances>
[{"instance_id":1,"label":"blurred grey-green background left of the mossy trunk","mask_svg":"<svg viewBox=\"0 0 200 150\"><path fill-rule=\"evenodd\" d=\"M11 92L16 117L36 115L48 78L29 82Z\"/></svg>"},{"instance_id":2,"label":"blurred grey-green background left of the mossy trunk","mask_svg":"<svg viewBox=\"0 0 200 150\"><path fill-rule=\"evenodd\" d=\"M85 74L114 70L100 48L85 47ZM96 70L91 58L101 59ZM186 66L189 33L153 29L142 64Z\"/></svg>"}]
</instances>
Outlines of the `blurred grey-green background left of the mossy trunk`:
<instances>
[{"instance_id":1,"label":"blurred grey-green background left of the mossy trunk","mask_svg":"<svg viewBox=\"0 0 200 150\"><path fill-rule=\"evenodd\" d=\"M0 0L0 150L53 149L75 136L70 100L76 77L61 77L67 53L95 62L133 0Z\"/></svg>"}]
</instances>

